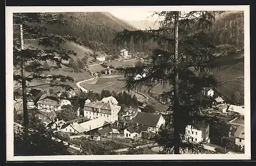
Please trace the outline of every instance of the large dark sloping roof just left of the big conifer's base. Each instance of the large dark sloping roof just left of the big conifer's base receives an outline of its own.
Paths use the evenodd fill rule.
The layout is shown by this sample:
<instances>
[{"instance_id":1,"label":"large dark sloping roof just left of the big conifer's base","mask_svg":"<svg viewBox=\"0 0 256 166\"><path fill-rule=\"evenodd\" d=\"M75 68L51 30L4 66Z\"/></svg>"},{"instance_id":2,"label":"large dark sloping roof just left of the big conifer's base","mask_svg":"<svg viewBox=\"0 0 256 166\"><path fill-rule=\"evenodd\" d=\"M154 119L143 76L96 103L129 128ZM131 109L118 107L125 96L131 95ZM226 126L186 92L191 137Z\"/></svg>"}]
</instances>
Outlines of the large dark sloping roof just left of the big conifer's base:
<instances>
[{"instance_id":1,"label":"large dark sloping roof just left of the big conifer's base","mask_svg":"<svg viewBox=\"0 0 256 166\"><path fill-rule=\"evenodd\" d=\"M160 120L161 115L146 113L146 112L138 112L134 117L133 123L138 123L145 126L156 127L158 121Z\"/></svg>"}]
</instances>

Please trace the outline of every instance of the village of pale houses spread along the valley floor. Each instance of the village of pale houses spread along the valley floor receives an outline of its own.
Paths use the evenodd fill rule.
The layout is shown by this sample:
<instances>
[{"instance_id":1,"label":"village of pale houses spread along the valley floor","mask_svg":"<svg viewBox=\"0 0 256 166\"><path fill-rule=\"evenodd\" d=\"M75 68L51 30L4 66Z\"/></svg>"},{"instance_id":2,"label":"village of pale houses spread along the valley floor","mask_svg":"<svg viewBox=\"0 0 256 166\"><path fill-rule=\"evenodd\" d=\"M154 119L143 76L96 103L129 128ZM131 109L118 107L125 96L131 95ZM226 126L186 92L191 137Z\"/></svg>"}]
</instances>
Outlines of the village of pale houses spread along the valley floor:
<instances>
[{"instance_id":1,"label":"village of pale houses spread along the valley floor","mask_svg":"<svg viewBox=\"0 0 256 166\"><path fill-rule=\"evenodd\" d=\"M120 64L125 60L134 59L147 62L143 58L129 54L125 49L120 51L120 57L114 61ZM119 71L116 70L115 67L109 65L112 61L106 61L105 56L96 56L96 62L98 63L92 64L90 70L92 67L95 68L96 65L100 65L101 68L98 70L94 69L94 72L90 71L94 76L91 81L99 78L122 78L118 77L122 75L121 67L118 67ZM146 71L141 75L138 74L134 80L141 79L145 76ZM84 101L83 108L75 108L70 99L79 96L81 92L100 92L104 88L109 91L118 89L112 89L118 86L118 83L116 85L115 83L109 83L107 86L100 85L101 88L95 88L89 82L87 81L82 85L80 83L77 84L78 88L72 91L41 92L38 96L27 99L28 109L36 109L36 116L47 128L54 130L58 140L67 141L68 145L75 146L79 151L83 151L85 149L84 146L86 146L82 145L81 141L83 139L91 139L93 141L99 141L101 144L102 141L104 143L108 141L114 142L118 146L109 147L109 149L115 152L121 153L122 151L128 151L129 148L140 147L142 149L150 149L148 153L157 154L159 146L154 144L154 136L165 125L165 116L167 114L164 109L167 109L169 101L158 100L159 105L164 106L164 109L156 109L156 111L148 112L145 111L145 107L148 105L148 98L153 100L156 94L148 96L141 92L135 92L139 104L136 106L126 105L124 107L110 93L101 97L101 100L91 101L88 98ZM91 88L89 89L90 86ZM118 89L117 94L122 90ZM15 91L21 91L21 89L15 89ZM48 98L49 96L60 97L63 93L66 94L66 99L62 99L60 102ZM209 124L201 124L201 127L198 128L187 126L185 128L187 137L195 143L204 142L205 148L212 153L242 153L244 151L244 106L228 104L223 99L223 96L211 87L205 87L202 95L208 100L204 103L205 107L201 112L208 116L218 116L225 121L225 126L215 127ZM139 98L142 99L139 100ZM72 110L77 114L77 118L69 119L68 121L57 118L57 114L61 111L67 111L68 106L72 107ZM22 114L22 107L22 97L16 96L14 100L15 112ZM225 129L219 132L216 131L216 128ZM219 136L216 133L211 133L211 131L219 133ZM68 135L68 138L64 138L63 134Z\"/></svg>"}]
</instances>

